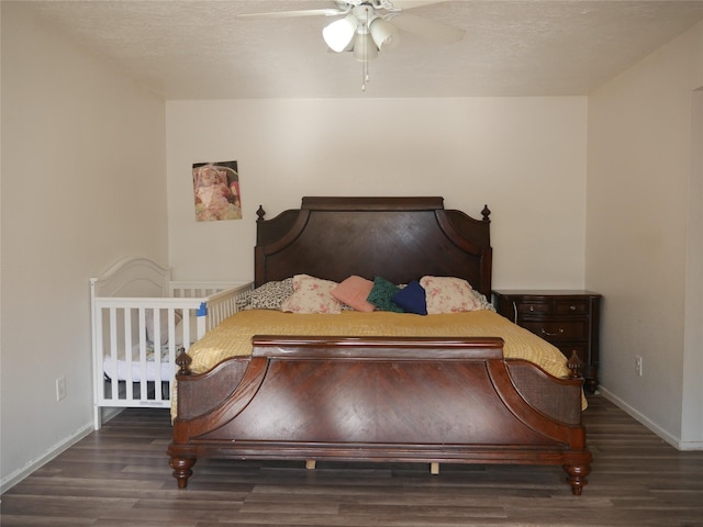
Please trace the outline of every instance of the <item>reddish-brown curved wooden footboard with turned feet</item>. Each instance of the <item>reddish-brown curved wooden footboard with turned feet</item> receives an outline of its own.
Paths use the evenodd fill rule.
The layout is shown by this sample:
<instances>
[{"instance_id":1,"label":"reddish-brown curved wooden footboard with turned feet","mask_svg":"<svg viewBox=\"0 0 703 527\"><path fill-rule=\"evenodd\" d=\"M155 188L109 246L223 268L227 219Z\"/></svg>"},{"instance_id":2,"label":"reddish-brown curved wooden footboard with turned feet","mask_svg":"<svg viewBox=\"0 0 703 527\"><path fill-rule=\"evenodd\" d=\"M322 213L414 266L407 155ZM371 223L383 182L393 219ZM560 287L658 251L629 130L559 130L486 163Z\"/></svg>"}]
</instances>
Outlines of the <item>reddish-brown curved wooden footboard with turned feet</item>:
<instances>
[{"instance_id":1,"label":"reddish-brown curved wooden footboard with turned feet","mask_svg":"<svg viewBox=\"0 0 703 527\"><path fill-rule=\"evenodd\" d=\"M500 338L254 338L252 357L178 375L168 447L199 457L560 464L581 494L582 379L504 360Z\"/></svg>"}]
</instances>

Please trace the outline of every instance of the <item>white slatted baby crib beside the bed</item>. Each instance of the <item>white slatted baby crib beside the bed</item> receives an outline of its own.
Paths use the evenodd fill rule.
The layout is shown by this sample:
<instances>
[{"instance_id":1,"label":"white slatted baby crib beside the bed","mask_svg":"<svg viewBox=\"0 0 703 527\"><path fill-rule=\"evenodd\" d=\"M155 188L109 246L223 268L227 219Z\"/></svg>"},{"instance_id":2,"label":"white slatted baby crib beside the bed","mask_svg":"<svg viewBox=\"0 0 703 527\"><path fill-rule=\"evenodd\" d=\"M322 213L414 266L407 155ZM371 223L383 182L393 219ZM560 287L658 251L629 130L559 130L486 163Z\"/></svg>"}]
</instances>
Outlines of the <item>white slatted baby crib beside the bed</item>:
<instances>
[{"instance_id":1,"label":"white slatted baby crib beside the bed","mask_svg":"<svg viewBox=\"0 0 703 527\"><path fill-rule=\"evenodd\" d=\"M90 279L94 428L102 408L170 407L176 357L237 310L243 282L174 282L146 258Z\"/></svg>"}]
</instances>

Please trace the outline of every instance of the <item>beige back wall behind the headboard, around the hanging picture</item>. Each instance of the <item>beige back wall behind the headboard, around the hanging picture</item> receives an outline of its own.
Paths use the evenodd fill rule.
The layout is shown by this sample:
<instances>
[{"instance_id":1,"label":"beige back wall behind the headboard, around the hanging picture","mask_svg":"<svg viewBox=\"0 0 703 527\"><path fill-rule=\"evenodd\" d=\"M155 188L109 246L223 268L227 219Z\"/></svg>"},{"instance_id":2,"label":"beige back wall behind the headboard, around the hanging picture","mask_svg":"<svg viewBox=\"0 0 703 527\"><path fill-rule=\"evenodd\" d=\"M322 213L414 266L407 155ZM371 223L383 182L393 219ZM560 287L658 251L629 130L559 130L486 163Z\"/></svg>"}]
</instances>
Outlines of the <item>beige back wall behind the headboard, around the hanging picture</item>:
<instances>
[{"instance_id":1,"label":"beige back wall behind the headboard, around the hanging picture","mask_svg":"<svg viewBox=\"0 0 703 527\"><path fill-rule=\"evenodd\" d=\"M256 210L302 195L443 195L492 214L495 287L580 288L587 99L170 101L169 260L252 279ZM197 223L193 162L237 160L244 220Z\"/></svg>"}]
</instances>

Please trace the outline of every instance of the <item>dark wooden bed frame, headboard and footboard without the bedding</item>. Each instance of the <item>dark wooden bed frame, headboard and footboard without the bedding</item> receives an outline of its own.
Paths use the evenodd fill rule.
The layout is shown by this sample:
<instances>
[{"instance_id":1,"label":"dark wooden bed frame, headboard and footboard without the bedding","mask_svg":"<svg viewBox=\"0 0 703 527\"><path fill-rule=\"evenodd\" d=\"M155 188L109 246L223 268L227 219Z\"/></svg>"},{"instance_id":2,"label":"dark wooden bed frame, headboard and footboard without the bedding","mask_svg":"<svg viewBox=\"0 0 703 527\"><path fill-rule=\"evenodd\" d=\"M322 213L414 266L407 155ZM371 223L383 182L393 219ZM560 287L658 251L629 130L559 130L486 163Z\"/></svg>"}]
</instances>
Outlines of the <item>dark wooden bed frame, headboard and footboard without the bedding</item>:
<instances>
[{"instance_id":1,"label":"dark wooden bed frame, headboard and footboard without the bedding","mask_svg":"<svg viewBox=\"0 0 703 527\"><path fill-rule=\"evenodd\" d=\"M255 285L308 273L408 283L458 277L490 298L490 211L442 198L303 198L259 210ZM236 315L235 315L236 316ZM335 315L328 315L335 316ZM442 316L442 315L439 315ZM494 337L272 336L191 374L177 358L170 466L186 487L198 458L557 464L581 494L591 453L578 359L556 378L503 358Z\"/></svg>"}]
</instances>

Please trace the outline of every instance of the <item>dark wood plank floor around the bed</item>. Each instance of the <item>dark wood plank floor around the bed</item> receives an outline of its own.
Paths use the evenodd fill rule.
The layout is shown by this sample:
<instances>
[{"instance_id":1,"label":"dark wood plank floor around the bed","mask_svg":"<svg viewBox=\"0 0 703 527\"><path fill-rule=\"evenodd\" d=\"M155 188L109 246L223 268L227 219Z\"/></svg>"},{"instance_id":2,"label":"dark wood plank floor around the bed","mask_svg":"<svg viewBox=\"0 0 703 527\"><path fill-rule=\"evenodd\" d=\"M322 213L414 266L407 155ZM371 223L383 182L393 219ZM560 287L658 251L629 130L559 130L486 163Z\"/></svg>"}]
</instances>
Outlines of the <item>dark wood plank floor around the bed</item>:
<instances>
[{"instance_id":1,"label":"dark wood plank floor around the bed","mask_svg":"<svg viewBox=\"0 0 703 527\"><path fill-rule=\"evenodd\" d=\"M600 396L593 472L560 467L200 460L177 490L168 412L127 410L2 495L13 526L703 526L703 451L680 452Z\"/></svg>"}]
</instances>

